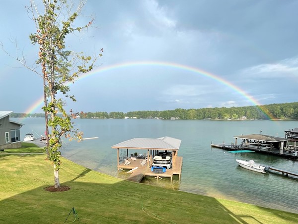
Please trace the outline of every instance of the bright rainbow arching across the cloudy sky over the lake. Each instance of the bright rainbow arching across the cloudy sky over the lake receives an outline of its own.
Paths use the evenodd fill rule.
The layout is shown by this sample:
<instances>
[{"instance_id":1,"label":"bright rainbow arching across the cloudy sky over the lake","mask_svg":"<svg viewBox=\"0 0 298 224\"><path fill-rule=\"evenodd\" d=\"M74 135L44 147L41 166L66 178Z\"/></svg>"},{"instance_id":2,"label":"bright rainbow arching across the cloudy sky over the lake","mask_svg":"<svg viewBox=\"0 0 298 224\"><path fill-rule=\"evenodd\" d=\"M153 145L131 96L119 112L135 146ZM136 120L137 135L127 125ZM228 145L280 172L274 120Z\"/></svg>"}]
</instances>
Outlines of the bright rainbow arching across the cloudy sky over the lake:
<instances>
[{"instance_id":1,"label":"bright rainbow arching across the cloudy sky over the lake","mask_svg":"<svg viewBox=\"0 0 298 224\"><path fill-rule=\"evenodd\" d=\"M220 76L217 76L217 75L212 74L210 72L207 72L207 71L195 68L195 67L187 66L187 65L177 64L177 63L160 62L160 61L136 61L136 62L125 62L125 63L112 64L112 65L108 65L108 66L98 67L98 68L92 70L91 72L80 76L77 81L82 80L82 79L86 79L86 78L88 78L90 76L93 76L95 74L98 74L98 73L103 73L103 72L116 70L116 69L120 69L120 68L126 68L126 67L136 67L136 66L169 67L169 68L174 68L174 69L180 69L180 70L193 72L193 73L196 73L198 75L208 77L210 79L215 80L216 82L219 82L219 83L223 84L224 86L227 86L228 88L230 88L231 90L237 92L238 94L242 95L244 98L246 98L252 104L257 106L265 115L267 115L267 118L274 119L274 116L270 112L265 111L260 106L260 103L257 100L255 100L252 96L248 95L244 90L241 90L239 87L235 86L234 84L232 84L232 83L228 82L227 80L224 80ZM71 84L68 84L68 85L71 85ZM42 96L33 105L31 105L26 110L25 113L33 113L35 110L40 109L42 107L43 100L44 100L44 98Z\"/></svg>"}]
</instances>

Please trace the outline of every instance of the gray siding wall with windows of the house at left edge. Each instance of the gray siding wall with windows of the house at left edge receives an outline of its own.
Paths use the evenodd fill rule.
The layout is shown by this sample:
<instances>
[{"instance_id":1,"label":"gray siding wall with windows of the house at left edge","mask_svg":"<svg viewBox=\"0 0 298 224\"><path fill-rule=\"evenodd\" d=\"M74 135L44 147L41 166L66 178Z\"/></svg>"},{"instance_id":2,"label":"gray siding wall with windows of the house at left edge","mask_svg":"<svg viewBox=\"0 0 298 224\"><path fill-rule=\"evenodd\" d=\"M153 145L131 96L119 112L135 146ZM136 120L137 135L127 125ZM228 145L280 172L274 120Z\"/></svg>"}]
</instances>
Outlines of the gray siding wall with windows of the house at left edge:
<instances>
[{"instance_id":1,"label":"gray siding wall with windows of the house at left edge","mask_svg":"<svg viewBox=\"0 0 298 224\"><path fill-rule=\"evenodd\" d=\"M13 136L11 133L12 130L16 130L19 133L21 125L11 123L9 121L9 115L4 116L0 119L0 151L3 151L6 148L19 148L21 147L21 139L19 136ZM6 142L6 133L8 133L8 138ZM14 142L12 142L12 140Z\"/></svg>"}]
</instances>

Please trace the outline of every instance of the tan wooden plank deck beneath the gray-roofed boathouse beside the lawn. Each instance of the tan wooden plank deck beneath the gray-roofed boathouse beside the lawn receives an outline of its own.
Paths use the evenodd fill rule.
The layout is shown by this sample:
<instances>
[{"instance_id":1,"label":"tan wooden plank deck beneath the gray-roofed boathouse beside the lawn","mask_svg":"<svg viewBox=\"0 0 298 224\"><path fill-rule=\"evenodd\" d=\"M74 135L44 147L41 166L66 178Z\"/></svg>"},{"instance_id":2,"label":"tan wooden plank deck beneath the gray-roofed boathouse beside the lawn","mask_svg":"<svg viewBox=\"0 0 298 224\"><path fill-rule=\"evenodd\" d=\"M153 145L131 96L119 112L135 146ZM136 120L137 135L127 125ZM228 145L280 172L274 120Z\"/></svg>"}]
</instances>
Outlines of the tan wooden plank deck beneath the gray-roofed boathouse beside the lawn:
<instances>
[{"instance_id":1,"label":"tan wooden plank deck beneath the gray-roofed boathouse beside the lawn","mask_svg":"<svg viewBox=\"0 0 298 224\"><path fill-rule=\"evenodd\" d=\"M121 169L134 169L138 167L128 178L129 181L141 182L145 176L153 176L158 180L162 177L170 178L173 180L173 175L178 175L179 180L181 179L181 171L182 171L182 157L177 156L176 163L174 164L173 169L166 169L165 173L153 173L151 171L151 163L147 163L147 166L141 166L141 161L144 159L132 160L131 164L124 165L124 163L119 164L119 168Z\"/></svg>"}]
</instances>

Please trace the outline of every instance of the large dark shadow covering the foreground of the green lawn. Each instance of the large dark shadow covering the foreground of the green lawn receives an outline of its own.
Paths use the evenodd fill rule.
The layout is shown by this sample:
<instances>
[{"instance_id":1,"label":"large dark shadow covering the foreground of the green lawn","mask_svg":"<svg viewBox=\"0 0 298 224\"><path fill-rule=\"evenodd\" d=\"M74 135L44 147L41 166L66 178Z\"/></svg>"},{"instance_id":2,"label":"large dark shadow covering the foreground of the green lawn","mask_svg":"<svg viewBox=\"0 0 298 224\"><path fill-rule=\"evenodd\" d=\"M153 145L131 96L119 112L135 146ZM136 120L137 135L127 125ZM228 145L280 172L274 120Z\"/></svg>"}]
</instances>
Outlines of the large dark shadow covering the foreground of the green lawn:
<instances>
[{"instance_id":1,"label":"large dark shadow covering the foreground of the green lawn","mask_svg":"<svg viewBox=\"0 0 298 224\"><path fill-rule=\"evenodd\" d=\"M84 182L90 171L85 169L71 181L64 182L63 185L71 187L69 191L47 192L46 186L40 186L0 201L0 223L63 223L69 211L75 208L79 221L87 224L248 224L246 220L262 224L258 218L238 216L216 199L206 196L113 178L113 183ZM102 178L107 176L102 175ZM72 221L70 218L66 223ZM295 222L298 222L298 215L285 221Z\"/></svg>"}]
</instances>

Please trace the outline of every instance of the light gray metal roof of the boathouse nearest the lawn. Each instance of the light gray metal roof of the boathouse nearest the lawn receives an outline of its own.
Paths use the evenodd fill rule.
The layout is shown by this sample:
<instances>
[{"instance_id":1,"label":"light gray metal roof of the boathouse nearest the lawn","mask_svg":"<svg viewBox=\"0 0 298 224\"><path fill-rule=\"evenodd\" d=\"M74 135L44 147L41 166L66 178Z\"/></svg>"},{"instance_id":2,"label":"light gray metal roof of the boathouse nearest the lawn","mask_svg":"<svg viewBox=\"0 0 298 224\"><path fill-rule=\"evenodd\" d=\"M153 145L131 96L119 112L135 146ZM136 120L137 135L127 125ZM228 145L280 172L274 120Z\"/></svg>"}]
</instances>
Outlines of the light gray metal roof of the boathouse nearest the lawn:
<instances>
[{"instance_id":1,"label":"light gray metal roof of the boathouse nearest the lawn","mask_svg":"<svg viewBox=\"0 0 298 224\"><path fill-rule=\"evenodd\" d=\"M167 136L161 138L133 138L113 145L112 148L178 150L180 143L180 139Z\"/></svg>"}]
</instances>

